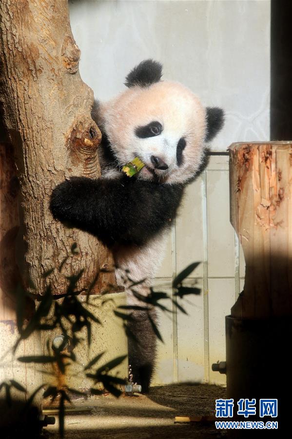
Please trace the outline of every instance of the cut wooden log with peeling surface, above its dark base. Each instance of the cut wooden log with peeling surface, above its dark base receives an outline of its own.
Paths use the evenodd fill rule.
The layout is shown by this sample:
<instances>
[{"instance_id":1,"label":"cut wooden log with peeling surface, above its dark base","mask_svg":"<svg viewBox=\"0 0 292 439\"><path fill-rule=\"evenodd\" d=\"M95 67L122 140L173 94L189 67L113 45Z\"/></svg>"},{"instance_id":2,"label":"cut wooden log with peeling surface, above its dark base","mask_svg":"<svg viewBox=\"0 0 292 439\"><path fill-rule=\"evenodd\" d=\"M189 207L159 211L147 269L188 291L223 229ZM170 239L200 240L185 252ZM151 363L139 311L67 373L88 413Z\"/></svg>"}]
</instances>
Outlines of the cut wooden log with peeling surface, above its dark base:
<instances>
[{"instance_id":1,"label":"cut wooden log with peeling surface, above its dark base","mask_svg":"<svg viewBox=\"0 0 292 439\"><path fill-rule=\"evenodd\" d=\"M292 314L292 142L233 143L231 223L245 262L243 292L231 315Z\"/></svg>"}]
</instances>

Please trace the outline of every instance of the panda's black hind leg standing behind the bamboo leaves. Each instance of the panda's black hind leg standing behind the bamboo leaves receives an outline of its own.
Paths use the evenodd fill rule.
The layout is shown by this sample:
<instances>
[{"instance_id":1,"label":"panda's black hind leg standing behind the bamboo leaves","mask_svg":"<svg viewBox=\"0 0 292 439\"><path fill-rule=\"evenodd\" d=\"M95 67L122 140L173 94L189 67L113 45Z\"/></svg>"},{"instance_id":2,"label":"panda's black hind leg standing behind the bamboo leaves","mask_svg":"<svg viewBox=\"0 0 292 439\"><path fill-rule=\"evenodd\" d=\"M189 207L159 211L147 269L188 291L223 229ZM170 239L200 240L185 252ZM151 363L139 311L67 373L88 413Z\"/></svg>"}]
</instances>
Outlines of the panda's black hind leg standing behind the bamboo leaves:
<instances>
[{"instance_id":1,"label":"panda's black hind leg standing behind the bamboo leaves","mask_svg":"<svg viewBox=\"0 0 292 439\"><path fill-rule=\"evenodd\" d=\"M155 308L148 311L156 323ZM150 382L156 359L156 334L145 311L136 311L133 320L128 323L130 333L128 338L129 364L131 364L133 382L142 386L142 393L149 391Z\"/></svg>"}]
</instances>

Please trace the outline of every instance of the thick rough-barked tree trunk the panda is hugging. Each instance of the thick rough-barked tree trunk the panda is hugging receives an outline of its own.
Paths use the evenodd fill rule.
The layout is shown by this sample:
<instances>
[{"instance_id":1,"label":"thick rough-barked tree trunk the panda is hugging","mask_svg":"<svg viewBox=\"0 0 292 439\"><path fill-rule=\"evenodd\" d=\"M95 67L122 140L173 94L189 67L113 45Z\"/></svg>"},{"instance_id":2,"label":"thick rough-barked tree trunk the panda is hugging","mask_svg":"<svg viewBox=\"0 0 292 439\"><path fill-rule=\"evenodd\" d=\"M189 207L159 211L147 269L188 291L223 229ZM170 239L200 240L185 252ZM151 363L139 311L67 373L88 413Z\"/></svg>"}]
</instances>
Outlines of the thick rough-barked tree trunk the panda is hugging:
<instances>
[{"instance_id":1,"label":"thick rough-barked tree trunk the panda is hugging","mask_svg":"<svg viewBox=\"0 0 292 439\"><path fill-rule=\"evenodd\" d=\"M24 215L29 278L41 293L41 274L63 267L66 276L84 269L86 288L98 269L110 268L112 256L96 238L53 220L49 197L60 181L73 175L100 175L100 132L91 119L92 90L78 72L80 50L72 36L67 0L1 0L0 103L4 125L15 149ZM70 256L77 242L78 256ZM54 293L66 279L49 277ZM93 293L114 283L100 273Z\"/></svg>"}]
</instances>

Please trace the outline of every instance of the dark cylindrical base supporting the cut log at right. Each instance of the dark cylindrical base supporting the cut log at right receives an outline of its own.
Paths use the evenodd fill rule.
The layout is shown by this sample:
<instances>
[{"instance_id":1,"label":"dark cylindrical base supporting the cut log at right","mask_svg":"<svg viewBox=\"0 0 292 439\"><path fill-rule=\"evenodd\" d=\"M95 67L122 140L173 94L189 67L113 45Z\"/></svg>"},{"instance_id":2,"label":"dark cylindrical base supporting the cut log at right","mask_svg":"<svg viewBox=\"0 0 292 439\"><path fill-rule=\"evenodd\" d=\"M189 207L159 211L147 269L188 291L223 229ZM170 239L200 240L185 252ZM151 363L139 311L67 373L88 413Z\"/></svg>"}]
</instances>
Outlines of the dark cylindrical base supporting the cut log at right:
<instances>
[{"instance_id":1,"label":"dark cylindrical base supporting the cut log at right","mask_svg":"<svg viewBox=\"0 0 292 439\"><path fill-rule=\"evenodd\" d=\"M234 399L232 420L277 420L279 430L291 428L292 318L242 320L227 316L225 324L227 398ZM256 416L236 414L241 398L256 399ZM259 418L259 399L278 399L278 417ZM279 430L236 430L231 436L277 437Z\"/></svg>"}]
</instances>

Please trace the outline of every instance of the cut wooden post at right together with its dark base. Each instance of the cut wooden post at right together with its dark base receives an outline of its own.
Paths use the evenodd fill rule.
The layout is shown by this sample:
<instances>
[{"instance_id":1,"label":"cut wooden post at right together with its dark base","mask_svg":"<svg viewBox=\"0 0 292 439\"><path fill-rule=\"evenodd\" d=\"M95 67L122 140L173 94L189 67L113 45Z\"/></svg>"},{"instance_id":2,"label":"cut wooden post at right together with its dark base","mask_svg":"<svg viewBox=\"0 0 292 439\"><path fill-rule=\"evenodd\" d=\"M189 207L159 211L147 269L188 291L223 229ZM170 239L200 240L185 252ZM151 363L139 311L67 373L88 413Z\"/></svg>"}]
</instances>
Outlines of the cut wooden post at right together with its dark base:
<instances>
[{"instance_id":1,"label":"cut wooden post at right together with its dark base","mask_svg":"<svg viewBox=\"0 0 292 439\"><path fill-rule=\"evenodd\" d=\"M255 399L252 420L278 421L281 436L289 428L292 392L285 379L292 338L292 142L234 143L230 155L231 222L246 272L243 292L225 320L227 398L234 399L232 420L243 420L237 401ZM265 398L277 399L276 418L260 417L259 400ZM230 435L244 438L246 432Z\"/></svg>"}]
</instances>

